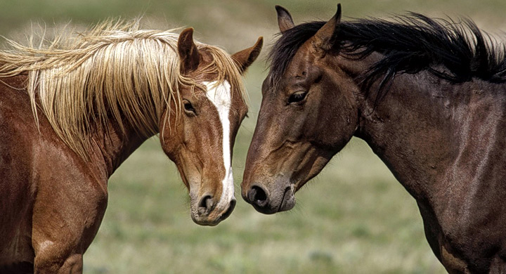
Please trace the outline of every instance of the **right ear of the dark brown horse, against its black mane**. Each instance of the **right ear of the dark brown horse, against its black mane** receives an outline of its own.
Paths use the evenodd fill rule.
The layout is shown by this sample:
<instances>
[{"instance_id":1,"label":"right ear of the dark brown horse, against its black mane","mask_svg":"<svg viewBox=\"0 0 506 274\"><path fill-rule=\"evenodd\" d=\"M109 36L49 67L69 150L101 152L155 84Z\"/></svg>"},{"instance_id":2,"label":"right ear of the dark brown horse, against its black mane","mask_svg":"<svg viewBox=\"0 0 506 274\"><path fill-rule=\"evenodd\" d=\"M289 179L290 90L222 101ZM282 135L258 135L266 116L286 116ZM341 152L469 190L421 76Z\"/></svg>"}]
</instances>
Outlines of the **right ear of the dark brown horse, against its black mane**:
<instances>
[{"instance_id":1,"label":"right ear of the dark brown horse, against its black mane","mask_svg":"<svg viewBox=\"0 0 506 274\"><path fill-rule=\"evenodd\" d=\"M311 37L311 44L320 56L332 49L339 34L339 22L341 22L341 4L337 4L337 12L323 27Z\"/></svg>"}]
</instances>

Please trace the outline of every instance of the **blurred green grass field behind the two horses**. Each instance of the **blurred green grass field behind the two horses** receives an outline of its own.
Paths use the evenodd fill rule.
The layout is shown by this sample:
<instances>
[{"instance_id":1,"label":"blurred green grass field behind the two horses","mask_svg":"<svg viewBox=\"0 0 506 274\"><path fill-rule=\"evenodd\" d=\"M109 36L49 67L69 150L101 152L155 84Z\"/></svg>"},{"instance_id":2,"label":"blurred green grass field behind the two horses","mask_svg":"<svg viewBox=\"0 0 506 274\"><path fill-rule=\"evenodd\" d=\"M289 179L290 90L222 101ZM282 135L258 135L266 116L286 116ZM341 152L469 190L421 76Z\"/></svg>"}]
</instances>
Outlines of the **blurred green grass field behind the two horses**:
<instances>
[{"instance_id":1,"label":"blurred green grass field behind the two horses","mask_svg":"<svg viewBox=\"0 0 506 274\"><path fill-rule=\"evenodd\" d=\"M0 34L22 37L32 22L143 15L149 27L192 26L197 37L229 52L277 32L273 6L294 20L328 19L335 1L35 1L0 0ZM418 11L468 15L490 32L506 30L506 1L343 1L346 17L387 17ZM363 143L353 139L322 174L297 193L289 212L266 216L240 197L245 156L266 75L263 56L245 81L252 105L235 145L238 205L216 227L191 221L188 192L160 149L148 140L112 176L109 205L96 240L84 256L85 273L445 273L427 244L415 200Z\"/></svg>"}]
</instances>

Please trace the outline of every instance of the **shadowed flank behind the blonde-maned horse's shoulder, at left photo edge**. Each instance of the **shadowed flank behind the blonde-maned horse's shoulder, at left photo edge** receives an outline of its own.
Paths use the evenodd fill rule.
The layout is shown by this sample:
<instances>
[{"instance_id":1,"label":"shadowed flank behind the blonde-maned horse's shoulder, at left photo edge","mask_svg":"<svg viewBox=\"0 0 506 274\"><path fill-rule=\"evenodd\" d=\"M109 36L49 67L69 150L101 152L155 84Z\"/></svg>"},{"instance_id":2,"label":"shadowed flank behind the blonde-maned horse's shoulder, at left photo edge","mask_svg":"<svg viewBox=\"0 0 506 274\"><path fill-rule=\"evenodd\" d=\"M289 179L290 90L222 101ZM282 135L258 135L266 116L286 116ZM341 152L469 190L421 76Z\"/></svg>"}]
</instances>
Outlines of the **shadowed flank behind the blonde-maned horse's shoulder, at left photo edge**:
<instances>
[{"instance_id":1,"label":"shadowed flank behind the blonde-maned horse's shoulder, at left photo edge","mask_svg":"<svg viewBox=\"0 0 506 274\"><path fill-rule=\"evenodd\" d=\"M27 93L0 84L0 268L33 260L30 115Z\"/></svg>"}]
</instances>

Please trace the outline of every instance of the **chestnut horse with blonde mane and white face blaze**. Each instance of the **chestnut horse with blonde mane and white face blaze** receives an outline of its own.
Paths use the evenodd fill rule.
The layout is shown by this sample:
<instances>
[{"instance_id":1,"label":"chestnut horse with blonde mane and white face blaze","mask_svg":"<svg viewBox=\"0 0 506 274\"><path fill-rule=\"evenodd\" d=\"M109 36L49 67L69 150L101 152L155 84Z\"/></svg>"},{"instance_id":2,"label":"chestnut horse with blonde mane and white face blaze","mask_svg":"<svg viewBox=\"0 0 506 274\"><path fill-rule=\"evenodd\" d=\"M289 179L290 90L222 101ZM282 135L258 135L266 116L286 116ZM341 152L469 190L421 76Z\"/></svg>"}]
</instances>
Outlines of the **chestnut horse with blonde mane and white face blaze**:
<instances>
[{"instance_id":1,"label":"chestnut horse with blonde mane and white face blaze","mask_svg":"<svg viewBox=\"0 0 506 274\"><path fill-rule=\"evenodd\" d=\"M229 56L195 42L191 28L137 25L0 52L0 273L82 273L108 178L157 133L193 221L215 226L233 211L241 74L262 39Z\"/></svg>"}]
</instances>

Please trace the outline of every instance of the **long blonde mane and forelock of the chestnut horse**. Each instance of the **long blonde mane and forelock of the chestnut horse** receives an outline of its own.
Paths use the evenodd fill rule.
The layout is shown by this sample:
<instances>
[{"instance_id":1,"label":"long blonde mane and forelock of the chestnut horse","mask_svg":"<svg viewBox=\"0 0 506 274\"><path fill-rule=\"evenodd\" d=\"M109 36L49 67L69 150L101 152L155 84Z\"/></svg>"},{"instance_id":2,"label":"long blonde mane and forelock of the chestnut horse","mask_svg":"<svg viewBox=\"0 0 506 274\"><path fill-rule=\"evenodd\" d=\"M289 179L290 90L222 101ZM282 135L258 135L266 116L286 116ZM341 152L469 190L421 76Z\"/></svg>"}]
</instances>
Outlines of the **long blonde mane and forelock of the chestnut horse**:
<instances>
[{"instance_id":1,"label":"long blonde mane and forelock of the chestnut horse","mask_svg":"<svg viewBox=\"0 0 506 274\"><path fill-rule=\"evenodd\" d=\"M0 81L27 73L37 125L41 110L58 136L86 159L91 133L105 129L110 119L122 131L126 122L143 136L153 136L160 132L164 110L170 113L171 101L179 107L179 86L195 86L179 72L178 37L171 30L140 30L136 20L104 22L37 48L8 40L11 49L0 51ZM204 73L216 73L219 82L227 79L246 100L231 56L216 46L195 44L214 59Z\"/></svg>"}]
</instances>

